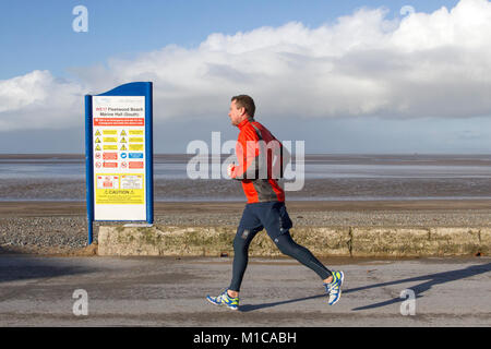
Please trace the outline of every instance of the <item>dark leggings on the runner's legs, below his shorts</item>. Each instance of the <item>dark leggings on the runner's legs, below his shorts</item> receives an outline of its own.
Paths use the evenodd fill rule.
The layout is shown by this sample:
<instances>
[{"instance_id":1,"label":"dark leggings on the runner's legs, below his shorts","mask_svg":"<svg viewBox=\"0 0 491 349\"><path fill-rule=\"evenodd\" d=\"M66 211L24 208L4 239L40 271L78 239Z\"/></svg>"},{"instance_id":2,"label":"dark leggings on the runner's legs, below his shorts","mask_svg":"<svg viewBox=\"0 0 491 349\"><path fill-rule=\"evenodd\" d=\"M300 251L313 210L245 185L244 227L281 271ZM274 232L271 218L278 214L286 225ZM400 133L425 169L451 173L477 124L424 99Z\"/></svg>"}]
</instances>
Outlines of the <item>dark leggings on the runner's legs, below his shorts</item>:
<instances>
[{"instance_id":1,"label":"dark leggings on the runner's legs, below his shorts","mask_svg":"<svg viewBox=\"0 0 491 349\"><path fill-rule=\"evenodd\" d=\"M249 262L249 245L255 234L261 231L248 231L247 234L237 234L233 239L233 265L232 265L232 280L229 289L232 291L240 291L240 285L242 284L243 274ZM318 258L304 246L299 245L291 239L289 232L285 232L277 237L274 242L279 251L290 257L296 258L304 266L314 270L321 279L326 279L332 275Z\"/></svg>"}]
</instances>

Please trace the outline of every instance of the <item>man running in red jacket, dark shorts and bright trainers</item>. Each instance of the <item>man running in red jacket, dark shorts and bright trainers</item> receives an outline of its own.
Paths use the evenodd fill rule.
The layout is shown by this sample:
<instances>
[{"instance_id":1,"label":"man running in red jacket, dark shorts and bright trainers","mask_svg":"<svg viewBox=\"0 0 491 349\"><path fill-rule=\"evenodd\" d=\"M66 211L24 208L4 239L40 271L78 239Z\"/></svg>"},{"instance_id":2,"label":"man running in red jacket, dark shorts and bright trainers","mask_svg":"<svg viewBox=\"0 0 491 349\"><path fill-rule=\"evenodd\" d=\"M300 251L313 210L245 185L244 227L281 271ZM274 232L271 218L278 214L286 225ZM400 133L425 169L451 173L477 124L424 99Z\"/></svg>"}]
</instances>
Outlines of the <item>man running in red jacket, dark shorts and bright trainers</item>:
<instances>
[{"instance_id":1,"label":"man running in red jacket, dark shorts and bright trainers","mask_svg":"<svg viewBox=\"0 0 491 349\"><path fill-rule=\"evenodd\" d=\"M292 222L285 206L285 192L278 183L287 165L282 143L261 123L254 120L254 100L247 95L233 96L228 113L231 124L239 128L236 155L238 166L230 165L228 174L242 182L248 203L233 239L232 279L228 289L217 297L206 299L215 305L239 309L239 291L249 260L249 245L255 234L266 229L279 251L296 258L315 272L330 296L328 304L335 304L342 294L343 272L328 270L304 246L290 236ZM284 154L285 153L285 154ZM275 155L275 165L273 160ZM286 164L283 164L285 160ZM279 168L278 168L279 164Z\"/></svg>"}]
</instances>

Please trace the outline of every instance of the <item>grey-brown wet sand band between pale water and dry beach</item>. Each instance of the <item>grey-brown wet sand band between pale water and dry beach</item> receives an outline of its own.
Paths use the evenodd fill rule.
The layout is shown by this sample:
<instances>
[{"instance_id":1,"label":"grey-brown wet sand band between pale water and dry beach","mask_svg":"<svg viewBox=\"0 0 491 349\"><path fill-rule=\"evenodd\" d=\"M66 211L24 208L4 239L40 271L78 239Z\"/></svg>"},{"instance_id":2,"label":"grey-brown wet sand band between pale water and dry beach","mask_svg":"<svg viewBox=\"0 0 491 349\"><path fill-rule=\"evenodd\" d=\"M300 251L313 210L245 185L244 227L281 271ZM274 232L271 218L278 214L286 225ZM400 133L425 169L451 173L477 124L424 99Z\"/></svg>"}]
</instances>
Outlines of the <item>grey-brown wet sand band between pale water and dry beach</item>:
<instances>
[{"instance_id":1,"label":"grey-brown wet sand band between pale water and dry beach","mask_svg":"<svg viewBox=\"0 0 491 349\"><path fill-rule=\"evenodd\" d=\"M84 202L86 185L83 177L2 179L0 192L1 202ZM286 195L288 202L483 201L491 200L491 177L310 179L302 190L287 191ZM244 196L240 183L232 180L156 179L154 197L157 203L223 203L241 202Z\"/></svg>"}]
</instances>

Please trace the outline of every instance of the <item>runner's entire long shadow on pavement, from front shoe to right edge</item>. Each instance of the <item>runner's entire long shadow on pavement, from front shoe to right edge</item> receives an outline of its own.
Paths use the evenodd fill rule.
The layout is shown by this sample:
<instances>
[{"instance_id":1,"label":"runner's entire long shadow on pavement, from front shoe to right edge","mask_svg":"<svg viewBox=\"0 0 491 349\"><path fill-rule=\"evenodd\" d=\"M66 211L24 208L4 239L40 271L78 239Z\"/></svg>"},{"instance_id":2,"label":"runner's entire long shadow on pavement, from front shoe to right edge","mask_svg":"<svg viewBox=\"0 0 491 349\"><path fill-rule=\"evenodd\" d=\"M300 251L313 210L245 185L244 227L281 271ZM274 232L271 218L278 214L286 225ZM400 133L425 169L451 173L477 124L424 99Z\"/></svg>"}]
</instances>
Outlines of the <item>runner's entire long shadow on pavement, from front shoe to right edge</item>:
<instances>
[{"instance_id":1,"label":"runner's entire long shadow on pavement, from front shoe to right edge","mask_svg":"<svg viewBox=\"0 0 491 349\"><path fill-rule=\"evenodd\" d=\"M369 286L363 286L363 287L358 287L358 288L352 288L352 289L346 289L346 290L344 289L343 293L346 294L346 293L367 290L367 289L371 289L371 288L379 288L379 287L397 285L397 284L427 280L426 282L419 284L419 285L410 288L411 290L415 291L416 298L420 298L420 297L422 297L421 293L429 290L433 285L451 282L451 281L455 281L458 279L471 277L475 275L484 274L488 272L491 272L491 263L482 264L482 265L471 265L465 269L430 274L430 275L424 275L424 276L411 277L411 278L407 278L407 279L400 279L400 280L388 281L388 282L374 284L374 285L369 285ZM321 297L326 297L326 294L323 293L323 294L318 294L318 296L290 299L290 300L273 302L273 303L244 304L244 305L240 306L240 311L241 312L251 312L251 311L259 310L259 309L272 308L272 306L276 306L276 305L283 305L283 304L295 303L295 302L302 302L302 301L321 298ZM387 300L384 302L355 308L352 310L359 311L359 310L385 306L385 305L394 304L397 302L402 302L404 300L405 300L404 298L394 298L394 299L391 299L391 300Z\"/></svg>"}]
</instances>

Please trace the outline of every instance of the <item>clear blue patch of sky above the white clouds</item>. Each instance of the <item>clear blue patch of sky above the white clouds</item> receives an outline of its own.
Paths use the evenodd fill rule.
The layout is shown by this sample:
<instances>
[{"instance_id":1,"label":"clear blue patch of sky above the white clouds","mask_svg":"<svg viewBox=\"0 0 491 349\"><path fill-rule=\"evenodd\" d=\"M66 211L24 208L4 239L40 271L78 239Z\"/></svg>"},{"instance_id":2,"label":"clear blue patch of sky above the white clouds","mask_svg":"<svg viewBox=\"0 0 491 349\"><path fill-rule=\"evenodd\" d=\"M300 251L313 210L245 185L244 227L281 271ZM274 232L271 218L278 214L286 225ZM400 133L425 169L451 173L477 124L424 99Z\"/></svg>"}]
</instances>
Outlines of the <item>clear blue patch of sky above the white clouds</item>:
<instances>
[{"instance_id":1,"label":"clear blue patch of sky above the white clouds","mask_svg":"<svg viewBox=\"0 0 491 349\"><path fill-rule=\"evenodd\" d=\"M239 5L240 3L240 5ZM16 0L0 2L0 80L49 70L69 76L70 68L131 58L177 44L193 47L212 33L235 34L298 21L316 27L361 7L385 7L399 16L404 5L418 11L454 7L456 0ZM88 32L72 31L74 7L88 10Z\"/></svg>"}]
</instances>

